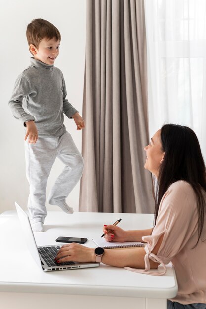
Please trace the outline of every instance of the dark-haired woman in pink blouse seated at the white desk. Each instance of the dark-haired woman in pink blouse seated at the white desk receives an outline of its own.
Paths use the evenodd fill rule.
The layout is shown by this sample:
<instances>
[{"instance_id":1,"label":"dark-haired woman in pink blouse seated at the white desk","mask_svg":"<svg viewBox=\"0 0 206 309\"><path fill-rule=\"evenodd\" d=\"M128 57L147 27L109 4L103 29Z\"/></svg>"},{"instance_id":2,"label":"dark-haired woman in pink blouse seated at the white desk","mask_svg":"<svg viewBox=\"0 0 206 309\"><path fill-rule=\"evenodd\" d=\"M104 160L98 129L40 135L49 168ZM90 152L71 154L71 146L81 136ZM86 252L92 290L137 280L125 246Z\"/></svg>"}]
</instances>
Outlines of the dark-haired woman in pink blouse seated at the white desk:
<instances>
[{"instance_id":1,"label":"dark-haired woman in pink blouse seated at the white desk","mask_svg":"<svg viewBox=\"0 0 206 309\"><path fill-rule=\"evenodd\" d=\"M105 264L153 275L164 274L165 264L171 261L178 293L168 300L167 308L206 309L206 169L198 139L188 127L167 124L144 150L145 168L158 179L153 229L124 231L105 225L103 231L107 241L144 241L145 247L95 252L70 244L59 250L56 260L102 258ZM162 273L149 272L160 263Z\"/></svg>"}]
</instances>

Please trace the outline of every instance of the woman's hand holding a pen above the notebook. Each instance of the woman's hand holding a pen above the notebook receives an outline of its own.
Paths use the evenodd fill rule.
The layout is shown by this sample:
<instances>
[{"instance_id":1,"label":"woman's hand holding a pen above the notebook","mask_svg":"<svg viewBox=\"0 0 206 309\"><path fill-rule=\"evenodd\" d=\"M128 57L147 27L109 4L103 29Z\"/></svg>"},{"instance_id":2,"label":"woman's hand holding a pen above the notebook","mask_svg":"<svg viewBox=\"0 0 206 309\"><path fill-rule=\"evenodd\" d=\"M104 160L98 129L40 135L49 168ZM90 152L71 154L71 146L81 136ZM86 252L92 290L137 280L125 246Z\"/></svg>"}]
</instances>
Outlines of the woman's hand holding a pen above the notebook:
<instances>
[{"instance_id":1,"label":"woman's hand holding a pen above the notebook","mask_svg":"<svg viewBox=\"0 0 206 309\"><path fill-rule=\"evenodd\" d=\"M112 240L117 242L128 241L127 231L124 231L118 226L112 224L104 225L103 232L105 234L104 238L106 241L112 241Z\"/></svg>"}]
</instances>

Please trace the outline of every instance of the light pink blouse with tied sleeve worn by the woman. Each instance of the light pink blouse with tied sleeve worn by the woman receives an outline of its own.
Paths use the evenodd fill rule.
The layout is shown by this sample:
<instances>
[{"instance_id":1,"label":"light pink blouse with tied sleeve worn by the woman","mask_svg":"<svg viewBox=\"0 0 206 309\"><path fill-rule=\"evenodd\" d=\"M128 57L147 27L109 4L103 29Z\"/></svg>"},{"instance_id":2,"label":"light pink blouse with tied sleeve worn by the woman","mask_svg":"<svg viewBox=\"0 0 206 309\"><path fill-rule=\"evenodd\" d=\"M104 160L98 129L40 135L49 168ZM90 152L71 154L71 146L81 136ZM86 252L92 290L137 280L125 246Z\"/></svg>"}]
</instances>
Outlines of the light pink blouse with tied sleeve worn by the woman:
<instances>
[{"instance_id":1,"label":"light pink blouse with tied sleeve worn by the woman","mask_svg":"<svg viewBox=\"0 0 206 309\"><path fill-rule=\"evenodd\" d=\"M166 272L165 264L172 262L178 283L177 296L171 301L181 304L206 303L206 213L201 239L198 239L196 195L185 181L173 183L165 192L159 208L156 226L151 236L144 236L145 270L127 270L152 275ZM164 234L157 255L151 253ZM205 241L202 241L205 240ZM149 259L163 265L163 272L150 272Z\"/></svg>"}]
</instances>

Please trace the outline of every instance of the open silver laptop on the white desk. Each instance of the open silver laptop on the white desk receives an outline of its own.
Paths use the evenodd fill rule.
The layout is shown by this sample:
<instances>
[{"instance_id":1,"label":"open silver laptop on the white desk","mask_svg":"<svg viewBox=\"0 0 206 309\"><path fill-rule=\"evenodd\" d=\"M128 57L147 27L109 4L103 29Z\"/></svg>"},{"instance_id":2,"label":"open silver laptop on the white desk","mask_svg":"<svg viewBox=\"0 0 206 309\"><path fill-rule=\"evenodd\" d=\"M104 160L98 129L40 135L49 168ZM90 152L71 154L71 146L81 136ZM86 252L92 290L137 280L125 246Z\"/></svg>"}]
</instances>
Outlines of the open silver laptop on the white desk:
<instances>
[{"instance_id":1,"label":"open silver laptop on the white desk","mask_svg":"<svg viewBox=\"0 0 206 309\"><path fill-rule=\"evenodd\" d=\"M32 227L29 221L29 217L26 212L15 203L17 214L20 220L20 224L23 230L23 234L26 240L27 247L36 261L37 265L43 271L56 271L56 270L74 270L80 268L90 268L97 267L100 263L96 262L87 262L87 263L79 263L79 262L65 262L65 263L56 263L54 258L56 253L61 248L60 245L53 246L37 246L35 237L32 231Z\"/></svg>"}]
</instances>

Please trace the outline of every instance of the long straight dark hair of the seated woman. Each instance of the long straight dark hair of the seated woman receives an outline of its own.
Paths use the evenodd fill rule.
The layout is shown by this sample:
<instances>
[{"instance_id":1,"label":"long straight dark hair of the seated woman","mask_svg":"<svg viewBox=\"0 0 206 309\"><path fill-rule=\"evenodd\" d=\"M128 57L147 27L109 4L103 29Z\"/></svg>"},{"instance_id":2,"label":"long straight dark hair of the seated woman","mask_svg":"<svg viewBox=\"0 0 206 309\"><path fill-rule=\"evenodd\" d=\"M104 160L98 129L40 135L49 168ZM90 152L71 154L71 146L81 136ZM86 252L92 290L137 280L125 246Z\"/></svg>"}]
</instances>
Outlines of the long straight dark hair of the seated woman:
<instances>
[{"instance_id":1,"label":"long straight dark hair of the seated woman","mask_svg":"<svg viewBox=\"0 0 206 309\"><path fill-rule=\"evenodd\" d=\"M206 167L197 136L189 127L176 124L165 124L160 136L165 156L158 174L155 224L161 199L168 187L184 180L192 186L197 198L199 241L206 211Z\"/></svg>"}]
</instances>

